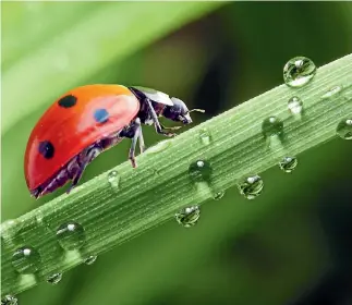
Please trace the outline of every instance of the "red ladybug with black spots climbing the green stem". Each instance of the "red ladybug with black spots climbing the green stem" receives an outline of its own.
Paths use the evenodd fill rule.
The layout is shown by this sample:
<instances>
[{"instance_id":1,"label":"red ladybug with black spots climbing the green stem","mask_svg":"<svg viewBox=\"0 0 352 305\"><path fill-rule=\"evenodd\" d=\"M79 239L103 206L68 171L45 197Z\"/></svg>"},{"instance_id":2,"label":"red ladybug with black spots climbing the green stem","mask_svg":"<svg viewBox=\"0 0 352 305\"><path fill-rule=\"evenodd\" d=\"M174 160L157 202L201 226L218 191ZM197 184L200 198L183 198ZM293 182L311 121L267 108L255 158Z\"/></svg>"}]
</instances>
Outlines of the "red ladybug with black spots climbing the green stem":
<instances>
[{"instance_id":1,"label":"red ladybug with black spots climbing the green stem","mask_svg":"<svg viewBox=\"0 0 352 305\"><path fill-rule=\"evenodd\" d=\"M70 180L75 187L86 166L101 151L123 138L132 139L129 159L136 168L135 148L145 150L142 124L153 125L165 136L174 136L158 117L192 123L186 105L167 94L122 85L86 85L61 96L39 119L29 136L24 157L25 179L31 195L52 193Z\"/></svg>"}]
</instances>

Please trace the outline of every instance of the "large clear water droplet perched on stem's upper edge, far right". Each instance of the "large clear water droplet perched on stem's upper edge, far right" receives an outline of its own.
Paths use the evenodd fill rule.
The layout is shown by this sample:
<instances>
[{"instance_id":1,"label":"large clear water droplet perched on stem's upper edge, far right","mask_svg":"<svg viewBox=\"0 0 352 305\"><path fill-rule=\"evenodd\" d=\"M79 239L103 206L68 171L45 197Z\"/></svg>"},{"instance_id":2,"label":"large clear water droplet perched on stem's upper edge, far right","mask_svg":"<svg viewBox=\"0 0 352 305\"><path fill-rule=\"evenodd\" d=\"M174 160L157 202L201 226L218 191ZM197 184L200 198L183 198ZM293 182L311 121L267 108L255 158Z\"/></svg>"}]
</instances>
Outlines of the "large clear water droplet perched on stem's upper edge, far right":
<instances>
[{"instance_id":1,"label":"large clear water droplet perched on stem's upper edge, far right","mask_svg":"<svg viewBox=\"0 0 352 305\"><path fill-rule=\"evenodd\" d=\"M283 81L290 87L301 87L311 82L315 73L316 66L311 59L295 57L283 68Z\"/></svg>"}]
</instances>

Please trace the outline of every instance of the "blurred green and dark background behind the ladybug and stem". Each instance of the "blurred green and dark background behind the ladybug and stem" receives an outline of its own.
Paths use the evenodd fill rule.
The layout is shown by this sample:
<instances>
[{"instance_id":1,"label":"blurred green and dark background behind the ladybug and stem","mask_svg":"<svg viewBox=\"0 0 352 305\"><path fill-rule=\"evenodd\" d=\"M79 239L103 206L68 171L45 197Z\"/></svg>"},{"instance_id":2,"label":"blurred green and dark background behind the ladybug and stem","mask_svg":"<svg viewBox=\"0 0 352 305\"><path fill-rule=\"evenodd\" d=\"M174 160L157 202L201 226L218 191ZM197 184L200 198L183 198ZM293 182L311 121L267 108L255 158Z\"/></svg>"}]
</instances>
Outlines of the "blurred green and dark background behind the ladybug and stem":
<instances>
[{"instance_id":1,"label":"blurred green and dark background behind the ladybug and stem","mask_svg":"<svg viewBox=\"0 0 352 305\"><path fill-rule=\"evenodd\" d=\"M32 199L23 156L32 127L66 89L154 87L206 109L197 124L280 85L294 56L320 66L352 51L351 2L1 5L2 221L62 193ZM161 139L144 134L149 146ZM102 154L83 181L126 160L129 145ZM257 199L229 190L192 229L170 221L57 286L22 293L21 304L352 304L351 154L341 139L306 151L292 174L262 173Z\"/></svg>"}]
</instances>

